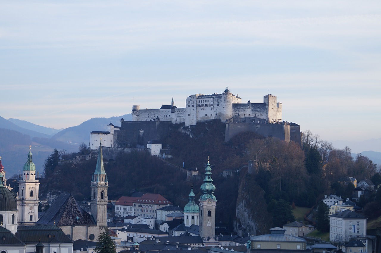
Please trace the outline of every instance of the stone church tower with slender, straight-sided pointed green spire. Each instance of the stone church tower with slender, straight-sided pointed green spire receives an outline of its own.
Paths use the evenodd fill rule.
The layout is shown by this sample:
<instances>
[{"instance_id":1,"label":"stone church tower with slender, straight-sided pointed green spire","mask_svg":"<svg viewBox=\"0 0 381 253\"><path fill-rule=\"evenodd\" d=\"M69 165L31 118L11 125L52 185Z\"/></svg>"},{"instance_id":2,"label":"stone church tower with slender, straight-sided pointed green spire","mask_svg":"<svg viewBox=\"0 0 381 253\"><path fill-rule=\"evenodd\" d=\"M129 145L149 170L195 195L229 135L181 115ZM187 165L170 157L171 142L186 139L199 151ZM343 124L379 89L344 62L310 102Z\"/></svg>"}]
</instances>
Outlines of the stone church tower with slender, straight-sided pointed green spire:
<instances>
[{"instance_id":1,"label":"stone church tower with slender, straight-sided pointed green spire","mask_svg":"<svg viewBox=\"0 0 381 253\"><path fill-rule=\"evenodd\" d=\"M91 215L98 227L107 227L107 188L109 183L106 171L104 171L102 156L102 139L99 145L98 160L91 179Z\"/></svg>"}]
</instances>

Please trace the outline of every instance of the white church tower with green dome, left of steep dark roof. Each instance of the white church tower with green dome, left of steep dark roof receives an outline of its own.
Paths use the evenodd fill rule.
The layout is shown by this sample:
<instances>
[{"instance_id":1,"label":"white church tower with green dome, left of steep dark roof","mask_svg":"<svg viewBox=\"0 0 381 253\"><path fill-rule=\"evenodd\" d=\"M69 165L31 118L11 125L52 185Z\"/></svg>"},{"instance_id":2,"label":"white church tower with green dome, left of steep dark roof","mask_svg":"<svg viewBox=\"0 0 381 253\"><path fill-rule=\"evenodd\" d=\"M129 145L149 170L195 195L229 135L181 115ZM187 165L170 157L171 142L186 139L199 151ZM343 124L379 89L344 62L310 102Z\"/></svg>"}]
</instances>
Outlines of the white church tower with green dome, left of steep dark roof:
<instances>
[{"instance_id":1,"label":"white church tower with green dome, left of steep dark roof","mask_svg":"<svg viewBox=\"0 0 381 253\"><path fill-rule=\"evenodd\" d=\"M18 223L19 225L34 225L38 220L38 180L36 180L36 166L32 162L30 151L27 162L22 169L22 179L19 181L19 192L17 197Z\"/></svg>"}]
</instances>

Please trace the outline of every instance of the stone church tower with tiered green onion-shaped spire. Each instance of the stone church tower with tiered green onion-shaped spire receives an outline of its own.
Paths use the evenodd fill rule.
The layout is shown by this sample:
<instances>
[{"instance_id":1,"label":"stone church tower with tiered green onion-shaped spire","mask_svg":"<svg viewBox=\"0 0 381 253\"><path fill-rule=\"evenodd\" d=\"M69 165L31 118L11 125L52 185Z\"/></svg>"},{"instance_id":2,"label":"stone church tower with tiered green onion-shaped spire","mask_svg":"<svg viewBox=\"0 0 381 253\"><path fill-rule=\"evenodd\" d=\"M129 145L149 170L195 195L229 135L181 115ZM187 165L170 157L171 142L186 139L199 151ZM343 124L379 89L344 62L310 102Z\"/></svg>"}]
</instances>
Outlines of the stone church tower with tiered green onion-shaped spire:
<instances>
[{"instance_id":1,"label":"stone church tower with tiered green onion-shaped spire","mask_svg":"<svg viewBox=\"0 0 381 253\"><path fill-rule=\"evenodd\" d=\"M205 179L200 189L202 195L200 196L200 236L204 241L214 241L215 227L216 227L216 197L213 195L216 186L213 184L211 178L212 169L209 164L205 168Z\"/></svg>"}]
</instances>

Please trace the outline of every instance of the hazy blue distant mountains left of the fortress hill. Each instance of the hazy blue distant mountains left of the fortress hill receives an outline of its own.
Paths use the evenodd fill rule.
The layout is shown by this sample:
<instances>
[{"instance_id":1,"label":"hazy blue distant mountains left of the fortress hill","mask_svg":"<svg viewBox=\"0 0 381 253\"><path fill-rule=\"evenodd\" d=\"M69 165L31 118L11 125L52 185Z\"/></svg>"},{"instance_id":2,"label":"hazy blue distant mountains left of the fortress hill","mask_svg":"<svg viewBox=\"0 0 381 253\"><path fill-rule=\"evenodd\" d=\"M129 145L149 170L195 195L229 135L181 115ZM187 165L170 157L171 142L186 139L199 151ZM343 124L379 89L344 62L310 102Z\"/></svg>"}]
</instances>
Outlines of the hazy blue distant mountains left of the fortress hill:
<instances>
[{"instance_id":1,"label":"hazy blue distant mountains left of the fortress hill","mask_svg":"<svg viewBox=\"0 0 381 253\"><path fill-rule=\"evenodd\" d=\"M45 159L54 149L76 152L80 143L89 144L91 131L104 131L112 122L120 126L120 118L131 121L132 115L126 114L110 118L92 118L82 124L63 130L43 127L15 118L0 117L0 156L6 177L22 171L27 159L29 145L32 145L32 159L36 170L43 172Z\"/></svg>"}]
</instances>

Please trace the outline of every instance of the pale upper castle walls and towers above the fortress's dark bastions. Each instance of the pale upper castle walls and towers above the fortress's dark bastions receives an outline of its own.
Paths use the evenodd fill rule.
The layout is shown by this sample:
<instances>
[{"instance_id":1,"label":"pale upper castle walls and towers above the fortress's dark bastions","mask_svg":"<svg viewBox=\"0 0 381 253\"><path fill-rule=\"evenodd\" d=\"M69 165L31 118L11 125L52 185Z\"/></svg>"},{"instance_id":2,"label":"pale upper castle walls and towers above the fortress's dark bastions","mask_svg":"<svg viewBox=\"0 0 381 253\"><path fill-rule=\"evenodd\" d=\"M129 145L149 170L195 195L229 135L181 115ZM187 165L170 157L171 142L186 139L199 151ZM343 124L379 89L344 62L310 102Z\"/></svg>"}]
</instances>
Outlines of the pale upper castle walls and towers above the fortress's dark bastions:
<instances>
[{"instance_id":1,"label":"pale upper castle walls and towers above the fortress's dark bastions","mask_svg":"<svg viewBox=\"0 0 381 253\"><path fill-rule=\"evenodd\" d=\"M185 123L185 126L194 126L196 123L212 119L229 121L239 116L241 120L255 123L272 123L282 120L282 103L277 102L277 96L268 94L263 96L263 103L241 103L242 99L226 90L211 95L193 94L186 98L185 107L165 105L160 109L140 109L132 107L133 121L170 121L174 124Z\"/></svg>"}]
</instances>

